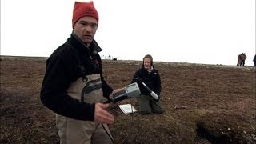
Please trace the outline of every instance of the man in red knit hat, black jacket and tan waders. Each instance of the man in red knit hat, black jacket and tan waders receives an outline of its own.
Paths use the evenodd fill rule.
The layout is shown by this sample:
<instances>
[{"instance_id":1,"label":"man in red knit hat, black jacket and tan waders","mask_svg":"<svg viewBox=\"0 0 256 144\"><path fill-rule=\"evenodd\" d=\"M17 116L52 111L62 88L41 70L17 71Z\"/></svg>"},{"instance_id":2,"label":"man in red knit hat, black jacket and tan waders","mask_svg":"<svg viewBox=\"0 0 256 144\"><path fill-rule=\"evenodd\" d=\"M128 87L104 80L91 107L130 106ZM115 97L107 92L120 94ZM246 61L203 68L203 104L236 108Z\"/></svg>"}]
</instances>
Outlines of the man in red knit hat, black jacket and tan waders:
<instances>
[{"instance_id":1,"label":"man in red knit hat, black jacket and tan waders","mask_svg":"<svg viewBox=\"0 0 256 144\"><path fill-rule=\"evenodd\" d=\"M60 143L113 143L107 124L114 116L103 102L120 89L112 89L102 77L93 2L74 3L72 26L70 38L47 59L41 101L56 113Z\"/></svg>"}]
</instances>

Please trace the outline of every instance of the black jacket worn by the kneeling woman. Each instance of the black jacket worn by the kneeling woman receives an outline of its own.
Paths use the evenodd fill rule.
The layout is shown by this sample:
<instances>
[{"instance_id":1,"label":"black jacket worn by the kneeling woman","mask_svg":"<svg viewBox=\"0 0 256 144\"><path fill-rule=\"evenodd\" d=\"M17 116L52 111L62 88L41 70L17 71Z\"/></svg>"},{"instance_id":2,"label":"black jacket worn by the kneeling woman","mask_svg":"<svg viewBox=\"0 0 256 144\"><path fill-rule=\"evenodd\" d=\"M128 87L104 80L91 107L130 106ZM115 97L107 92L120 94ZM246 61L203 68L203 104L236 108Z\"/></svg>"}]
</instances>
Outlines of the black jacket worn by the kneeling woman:
<instances>
[{"instance_id":1,"label":"black jacket worn by the kneeling woman","mask_svg":"<svg viewBox=\"0 0 256 144\"><path fill-rule=\"evenodd\" d=\"M135 72L134 78L132 79L132 82L138 83L139 89L141 90L141 94L150 95L150 92L146 90L145 86L143 86L142 82L140 81L144 82L146 86L148 86L150 90L154 91L155 94L158 94L158 97L160 98L162 86L158 70L153 69L151 70L151 72L148 72L142 66L139 70Z\"/></svg>"}]
</instances>

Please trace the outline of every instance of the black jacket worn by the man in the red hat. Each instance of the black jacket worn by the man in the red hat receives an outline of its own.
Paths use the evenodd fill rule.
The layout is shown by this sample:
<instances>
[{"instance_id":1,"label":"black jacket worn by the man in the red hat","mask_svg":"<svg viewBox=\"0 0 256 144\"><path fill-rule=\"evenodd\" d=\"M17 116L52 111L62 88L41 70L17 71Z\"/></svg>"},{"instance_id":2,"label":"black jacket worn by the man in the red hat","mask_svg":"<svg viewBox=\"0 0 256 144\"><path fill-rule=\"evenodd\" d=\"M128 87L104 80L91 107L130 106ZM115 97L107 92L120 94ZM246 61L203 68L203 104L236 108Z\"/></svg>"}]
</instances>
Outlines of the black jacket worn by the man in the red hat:
<instances>
[{"instance_id":1,"label":"black jacket worn by the man in the red hat","mask_svg":"<svg viewBox=\"0 0 256 144\"><path fill-rule=\"evenodd\" d=\"M93 41L87 48L71 34L70 38L50 55L46 62L46 74L42 82L40 98L42 103L57 114L78 120L94 120L95 104L80 102L67 94L72 82L82 77L78 66L80 57L86 74L101 74L102 60L98 54L102 49ZM108 98L113 89L102 77L103 96Z\"/></svg>"}]
</instances>

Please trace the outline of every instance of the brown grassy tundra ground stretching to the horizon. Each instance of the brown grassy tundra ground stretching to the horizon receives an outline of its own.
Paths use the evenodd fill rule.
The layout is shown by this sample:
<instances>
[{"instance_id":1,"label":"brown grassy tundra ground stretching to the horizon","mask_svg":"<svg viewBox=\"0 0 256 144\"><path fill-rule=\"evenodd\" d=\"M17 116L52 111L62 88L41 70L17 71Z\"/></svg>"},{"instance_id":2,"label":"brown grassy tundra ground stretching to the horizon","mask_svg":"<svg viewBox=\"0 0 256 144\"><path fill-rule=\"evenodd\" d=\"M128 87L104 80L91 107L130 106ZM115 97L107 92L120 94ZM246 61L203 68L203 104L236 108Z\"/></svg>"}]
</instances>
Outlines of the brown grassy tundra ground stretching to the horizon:
<instances>
[{"instance_id":1,"label":"brown grassy tundra ground stretching to the horizon","mask_svg":"<svg viewBox=\"0 0 256 144\"><path fill-rule=\"evenodd\" d=\"M130 84L141 62L104 60L114 88ZM55 114L39 99L46 58L1 56L0 143L58 143ZM154 62L162 79L161 115L110 112L115 143L255 143L256 68ZM134 98L118 104L131 103Z\"/></svg>"}]
</instances>

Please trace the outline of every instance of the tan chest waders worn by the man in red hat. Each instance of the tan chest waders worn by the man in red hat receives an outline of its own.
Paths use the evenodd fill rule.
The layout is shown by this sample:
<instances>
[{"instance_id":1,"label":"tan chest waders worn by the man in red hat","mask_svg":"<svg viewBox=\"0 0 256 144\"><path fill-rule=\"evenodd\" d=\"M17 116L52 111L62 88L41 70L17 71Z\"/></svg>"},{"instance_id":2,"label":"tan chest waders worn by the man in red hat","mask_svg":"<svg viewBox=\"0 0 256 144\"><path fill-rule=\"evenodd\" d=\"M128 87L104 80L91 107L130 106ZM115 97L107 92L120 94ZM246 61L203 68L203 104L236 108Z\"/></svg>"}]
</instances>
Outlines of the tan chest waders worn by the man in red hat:
<instances>
[{"instance_id":1,"label":"tan chest waders worn by the man in red hat","mask_svg":"<svg viewBox=\"0 0 256 144\"><path fill-rule=\"evenodd\" d=\"M78 54L76 52L74 54L78 58ZM79 58L78 65L82 66ZM80 102L96 103L106 101L102 94L100 74L90 74L78 78L77 81L70 85L67 93ZM106 124L96 124L95 122L76 120L56 114L56 126L58 127L58 136L61 144L113 143L110 139L112 136L109 127Z\"/></svg>"}]
</instances>

